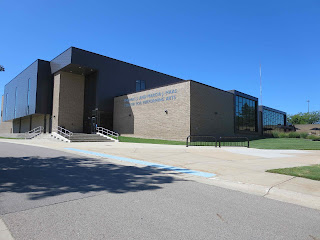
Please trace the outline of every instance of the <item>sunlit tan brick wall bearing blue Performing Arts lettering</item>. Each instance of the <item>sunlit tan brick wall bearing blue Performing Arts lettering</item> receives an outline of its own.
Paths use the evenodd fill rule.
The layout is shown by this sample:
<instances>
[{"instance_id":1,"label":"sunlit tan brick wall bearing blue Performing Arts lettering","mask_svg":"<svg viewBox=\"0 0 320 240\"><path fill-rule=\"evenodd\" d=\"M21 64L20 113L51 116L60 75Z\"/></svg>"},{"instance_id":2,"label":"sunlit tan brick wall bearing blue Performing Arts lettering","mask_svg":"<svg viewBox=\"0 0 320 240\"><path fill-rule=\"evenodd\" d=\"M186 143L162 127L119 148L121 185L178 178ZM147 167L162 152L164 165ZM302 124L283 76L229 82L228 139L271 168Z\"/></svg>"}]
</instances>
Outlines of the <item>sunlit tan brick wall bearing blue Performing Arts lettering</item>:
<instances>
[{"instance_id":1,"label":"sunlit tan brick wall bearing blue Performing Arts lettering","mask_svg":"<svg viewBox=\"0 0 320 240\"><path fill-rule=\"evenodd\" d=\"M190 135L190 82L116 97L113 122L121 135L184 141Z\"/></svg>"}]
</instances>

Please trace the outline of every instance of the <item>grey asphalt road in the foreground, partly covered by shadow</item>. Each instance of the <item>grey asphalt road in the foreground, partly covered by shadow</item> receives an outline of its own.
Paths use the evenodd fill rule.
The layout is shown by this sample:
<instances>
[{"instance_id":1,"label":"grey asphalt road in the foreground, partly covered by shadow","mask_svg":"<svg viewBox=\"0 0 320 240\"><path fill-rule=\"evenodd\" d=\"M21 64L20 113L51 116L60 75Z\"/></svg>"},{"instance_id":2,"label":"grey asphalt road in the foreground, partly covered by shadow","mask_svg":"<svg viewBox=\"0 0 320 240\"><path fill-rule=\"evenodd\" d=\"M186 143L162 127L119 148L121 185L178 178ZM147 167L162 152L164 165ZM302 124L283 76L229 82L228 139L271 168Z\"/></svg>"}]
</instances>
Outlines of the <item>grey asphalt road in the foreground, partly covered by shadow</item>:
<instances>
[{"instance_id":1,"label":"grey asphalt road in the foreground, partly covered by shadow","mask_svg":"<svg viewBox=\"0 0 320 240\"><path fill-rule=\"evenodd\" d=\"M9 143L0 143L0 217L15 239L28 240L320 240L314 209Z\"/></svg>"}]
</instances>

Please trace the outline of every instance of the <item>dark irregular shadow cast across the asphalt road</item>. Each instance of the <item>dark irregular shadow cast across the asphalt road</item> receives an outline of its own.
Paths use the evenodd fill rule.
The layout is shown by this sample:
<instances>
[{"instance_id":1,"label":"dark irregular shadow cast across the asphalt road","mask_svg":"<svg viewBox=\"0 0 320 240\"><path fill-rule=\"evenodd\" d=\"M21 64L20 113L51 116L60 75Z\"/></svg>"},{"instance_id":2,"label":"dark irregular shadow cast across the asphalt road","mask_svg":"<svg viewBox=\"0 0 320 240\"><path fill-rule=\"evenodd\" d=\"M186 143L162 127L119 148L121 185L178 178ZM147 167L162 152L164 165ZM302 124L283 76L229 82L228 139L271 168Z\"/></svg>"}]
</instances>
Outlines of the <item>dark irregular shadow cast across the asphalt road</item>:
<instances>
[{"instance_id":1,"label":"dark irregular shadow cast across the asphalt road","mask_svg":"<svg viewBox=\"0 0 320 240\"><path fill-rule=\"evenodd\" d=\"M176 179L166 170L112 164L85 157L1 157L0 194L24 193L29 200L68 193L127 193L157 190Z\"/></svg>"}]
</instances>

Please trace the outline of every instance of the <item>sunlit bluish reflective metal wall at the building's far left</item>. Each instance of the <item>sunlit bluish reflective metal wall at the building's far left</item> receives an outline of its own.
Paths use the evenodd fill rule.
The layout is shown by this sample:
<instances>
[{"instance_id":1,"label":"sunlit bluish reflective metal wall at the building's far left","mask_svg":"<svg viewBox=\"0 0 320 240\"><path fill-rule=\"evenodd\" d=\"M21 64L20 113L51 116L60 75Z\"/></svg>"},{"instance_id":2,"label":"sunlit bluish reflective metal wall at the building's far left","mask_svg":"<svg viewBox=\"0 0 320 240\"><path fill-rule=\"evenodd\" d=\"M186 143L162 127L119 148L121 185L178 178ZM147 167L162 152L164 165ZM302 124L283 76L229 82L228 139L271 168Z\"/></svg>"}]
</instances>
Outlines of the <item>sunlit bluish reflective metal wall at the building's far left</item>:
<instances>
[{"instance_id":1,"label":"sunlit bluish reflective metal wall at the building's far left","mask_svg":"<svg viewBox=\"0 0 320 240\"><path fill-rule=\"evenodd\" d=\"M4 88L4 121L36 113L38 60L12 79ZM30 81L28 107L28 80ZM15 114L16 107L16 114Z\"/></svg>"}]
</instances>

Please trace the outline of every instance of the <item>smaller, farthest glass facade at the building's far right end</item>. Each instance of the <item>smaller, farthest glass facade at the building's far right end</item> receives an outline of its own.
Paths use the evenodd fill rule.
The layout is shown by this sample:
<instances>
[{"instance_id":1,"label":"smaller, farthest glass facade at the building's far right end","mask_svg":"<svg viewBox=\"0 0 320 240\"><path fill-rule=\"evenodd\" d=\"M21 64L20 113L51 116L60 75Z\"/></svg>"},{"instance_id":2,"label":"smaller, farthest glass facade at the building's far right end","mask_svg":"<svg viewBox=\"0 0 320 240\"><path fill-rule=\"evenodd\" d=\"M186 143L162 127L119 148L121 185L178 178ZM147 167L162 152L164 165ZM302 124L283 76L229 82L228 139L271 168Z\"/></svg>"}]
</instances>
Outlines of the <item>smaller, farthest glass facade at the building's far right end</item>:
<instances>
[{"instance_id":1,"label":"smaller, farthest glass facade at the building's far right end","mask_svg":"<svg viewBox=\"0 0 320 240\"><path fill-rule=\"evenodd\" d=\"M269 109L263 109L263 133L271 133L285 126L286 115Z\"/></svg>"}]
</instances>

